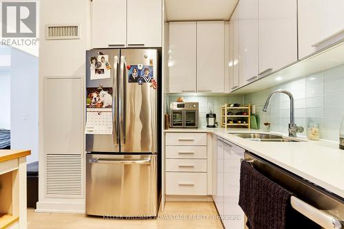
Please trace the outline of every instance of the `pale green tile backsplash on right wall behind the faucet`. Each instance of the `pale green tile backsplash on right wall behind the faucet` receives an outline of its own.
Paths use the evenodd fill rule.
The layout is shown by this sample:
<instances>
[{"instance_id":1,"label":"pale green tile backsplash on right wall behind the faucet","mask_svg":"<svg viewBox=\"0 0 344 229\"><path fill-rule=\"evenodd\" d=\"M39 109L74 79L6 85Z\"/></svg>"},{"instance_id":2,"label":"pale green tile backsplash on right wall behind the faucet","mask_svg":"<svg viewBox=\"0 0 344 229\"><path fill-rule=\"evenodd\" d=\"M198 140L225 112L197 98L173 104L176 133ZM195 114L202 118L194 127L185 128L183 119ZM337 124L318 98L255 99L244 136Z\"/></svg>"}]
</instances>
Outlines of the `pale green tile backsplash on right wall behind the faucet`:
<instances>
[{"instance_id":1,"label":"pale green tile backsplash on right wall behind the faucet","mask_svg":"<svg viewBox=\"0 0 344 229\"><path fill-rule=\"evenodd\" d=\"M307 134L308 124L319 124L320 138L338 140L344 116L344 65L327 69L310 76L298 78L277 87L244 96L244 103L256 105L262 123L271 122L272 131L288 133L290 100L285 94L275 94L269 112L262 111L268 95L276 89L286 89L294 96L295 122Z\"/></svg>"}]
</instances>

